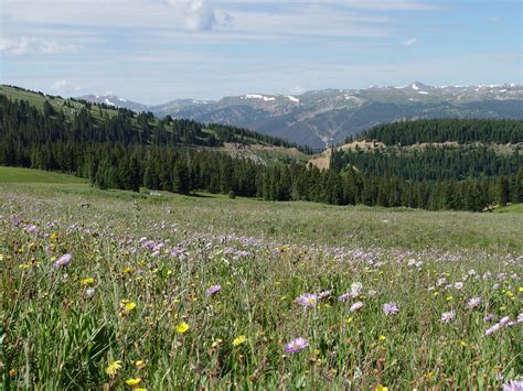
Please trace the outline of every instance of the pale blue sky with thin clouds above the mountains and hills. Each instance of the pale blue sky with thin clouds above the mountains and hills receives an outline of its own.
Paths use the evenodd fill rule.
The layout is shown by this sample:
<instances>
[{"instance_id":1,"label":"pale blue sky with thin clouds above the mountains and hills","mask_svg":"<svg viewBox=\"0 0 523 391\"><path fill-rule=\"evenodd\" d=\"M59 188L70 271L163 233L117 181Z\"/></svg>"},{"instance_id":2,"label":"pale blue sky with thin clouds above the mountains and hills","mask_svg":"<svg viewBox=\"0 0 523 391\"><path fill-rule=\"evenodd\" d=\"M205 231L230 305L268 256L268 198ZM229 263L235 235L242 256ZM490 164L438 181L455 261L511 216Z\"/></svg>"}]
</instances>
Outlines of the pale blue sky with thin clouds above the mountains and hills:
<instances>
[{"instance_id":1,"label":"pale blue sky with thin clouds above the mountains and hills","mask_svg":"<svg viewBox=\"0 0 523 391\"><path fill-rule=\"evenodd\" d=\"M0 0L0 82L145 104L523 83L521 0Z\"/></svg>"}]
</instances>

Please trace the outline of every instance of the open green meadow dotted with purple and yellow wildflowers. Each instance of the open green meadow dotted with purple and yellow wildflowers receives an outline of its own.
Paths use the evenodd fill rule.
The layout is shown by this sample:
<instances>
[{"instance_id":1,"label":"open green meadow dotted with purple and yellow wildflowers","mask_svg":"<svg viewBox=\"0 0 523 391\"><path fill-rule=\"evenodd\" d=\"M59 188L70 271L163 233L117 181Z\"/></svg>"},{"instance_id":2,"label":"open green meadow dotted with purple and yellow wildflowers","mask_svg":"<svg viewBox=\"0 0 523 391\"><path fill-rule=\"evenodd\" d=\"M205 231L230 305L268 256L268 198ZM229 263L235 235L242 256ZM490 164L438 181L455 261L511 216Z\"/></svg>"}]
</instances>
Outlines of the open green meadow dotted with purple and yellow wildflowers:
<instances>
[{"instance_id":1,"label":"open green meadow dotted with purple and yellow wildflowers","mask_svg":"<svg viewBox=\"0 0 523 391\"><path fill-rule=\"evenodd\" d=\"M4 389L499 389L523 214L100 191L0 167Z\"/></svg>"}]
</instances>

